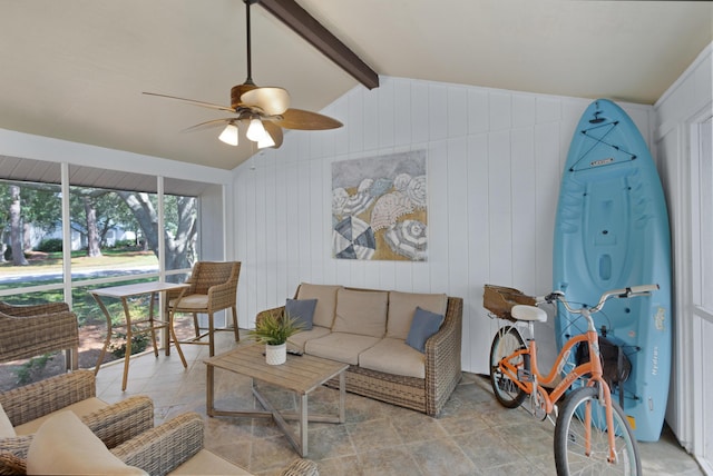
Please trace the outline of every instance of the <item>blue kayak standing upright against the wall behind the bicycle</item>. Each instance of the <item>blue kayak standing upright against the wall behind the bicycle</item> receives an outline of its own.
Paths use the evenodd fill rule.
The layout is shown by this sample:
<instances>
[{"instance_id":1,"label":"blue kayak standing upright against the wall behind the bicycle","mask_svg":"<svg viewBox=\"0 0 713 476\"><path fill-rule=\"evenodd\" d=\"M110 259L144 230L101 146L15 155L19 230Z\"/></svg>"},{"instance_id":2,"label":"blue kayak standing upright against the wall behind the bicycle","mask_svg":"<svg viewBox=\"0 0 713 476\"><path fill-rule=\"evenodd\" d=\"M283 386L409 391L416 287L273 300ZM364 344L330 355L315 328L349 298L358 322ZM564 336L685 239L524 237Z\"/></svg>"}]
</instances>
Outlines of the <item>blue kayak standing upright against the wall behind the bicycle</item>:
<instances>
[{"instance_id":1,"label":"blue kayak standing upright against the wall behind the bicycle","mask_svg":"<svg viewBox=\"0 0 713 476\"><path fill-rule=\"evenodd\" d=\"M670 236L663 188L644 138L617 105L594 101L577 125L563 172L554 289L573 304L594 306L611 289L660 286L648 297L611 299L593 316L599 334L631 360L631 375L614 398L623 401L642 442L660 438L666 411L673 327ZM559 305L558 347L584 331L586 321Z\"/></svg>"}]
</instances>

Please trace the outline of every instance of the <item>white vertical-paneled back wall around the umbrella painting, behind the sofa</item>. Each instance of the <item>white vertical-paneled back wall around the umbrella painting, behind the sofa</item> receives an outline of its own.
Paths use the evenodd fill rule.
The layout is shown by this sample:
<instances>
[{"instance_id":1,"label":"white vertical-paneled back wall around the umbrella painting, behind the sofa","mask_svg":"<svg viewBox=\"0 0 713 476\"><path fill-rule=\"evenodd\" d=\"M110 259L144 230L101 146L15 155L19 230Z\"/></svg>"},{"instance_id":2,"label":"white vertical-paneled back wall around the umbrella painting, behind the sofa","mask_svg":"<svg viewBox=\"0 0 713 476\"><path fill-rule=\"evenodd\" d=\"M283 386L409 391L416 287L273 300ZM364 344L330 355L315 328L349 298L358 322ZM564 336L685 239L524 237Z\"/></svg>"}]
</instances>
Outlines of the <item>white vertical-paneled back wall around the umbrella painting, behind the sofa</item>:
<instances>
[{"instance_id":1,"label":"white vertical-paneled back wall around the umbrella painting, behind the sofa","mask_svg":"<svg viewBox=\"0 0 713 476\"><path fill-rule=\"evenodd\" d=\"M482 285L550 290L560 171L589 102L388 77L354 88L322 111L343 128L291 131L235 170L241 327L301 281L447 292L465 299L463 369L487 373ZM622 106L649 141L653 108ZM427 151L428 261L333 259L331 162L416 149Z\"/></svg>"}]
</instances>

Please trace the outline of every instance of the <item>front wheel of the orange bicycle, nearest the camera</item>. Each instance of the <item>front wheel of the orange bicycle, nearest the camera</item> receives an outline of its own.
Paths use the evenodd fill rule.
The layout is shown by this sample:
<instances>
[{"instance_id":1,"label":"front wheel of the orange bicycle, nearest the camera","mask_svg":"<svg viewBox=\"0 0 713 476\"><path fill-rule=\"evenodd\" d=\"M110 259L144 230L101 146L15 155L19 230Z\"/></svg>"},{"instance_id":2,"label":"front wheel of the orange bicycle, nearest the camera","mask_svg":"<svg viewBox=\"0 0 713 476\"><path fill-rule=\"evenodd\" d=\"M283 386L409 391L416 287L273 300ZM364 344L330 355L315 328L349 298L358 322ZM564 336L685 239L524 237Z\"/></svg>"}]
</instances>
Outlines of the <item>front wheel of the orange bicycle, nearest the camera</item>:
<instances>
[{"instance_id":1,"label":"front wheel of the orange bicycle, nearest the camera","mask_svg":"<svg viewBox=\"0 0 713 476\"><path fill-rule=\"evenodd\" d=\"M614 427L607 428L606 406L594 387L573 391L555 426L557 475L641 475L636 439L624 410L612 401ZM608 433L613 432L616 460L609 458Z\"/></svg>"}]
</instances>

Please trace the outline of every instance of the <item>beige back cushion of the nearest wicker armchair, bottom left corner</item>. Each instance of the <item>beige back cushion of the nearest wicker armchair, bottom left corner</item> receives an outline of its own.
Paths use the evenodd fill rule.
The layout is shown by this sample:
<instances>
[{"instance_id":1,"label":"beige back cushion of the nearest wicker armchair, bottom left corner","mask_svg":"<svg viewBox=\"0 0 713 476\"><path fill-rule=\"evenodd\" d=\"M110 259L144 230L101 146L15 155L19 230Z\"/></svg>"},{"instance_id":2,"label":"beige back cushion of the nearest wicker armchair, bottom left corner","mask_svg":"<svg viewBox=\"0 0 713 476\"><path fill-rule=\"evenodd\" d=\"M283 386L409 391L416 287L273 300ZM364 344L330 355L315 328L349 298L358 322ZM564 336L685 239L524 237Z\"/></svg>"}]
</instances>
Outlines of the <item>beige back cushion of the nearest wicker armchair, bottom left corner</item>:
<instances>
[{"instance_id":1,"label":"beige back cushion of the nearest wicker armchair, bottom left corner","mask_svg":"<svg viewBox=\"0 0 713 476\"><path fill-rule=\"evenodd\" d=\"M37 430L27 453L28 475L147 475L114 456L71 411L60 411Z\"/></svg>"}]
</instances>

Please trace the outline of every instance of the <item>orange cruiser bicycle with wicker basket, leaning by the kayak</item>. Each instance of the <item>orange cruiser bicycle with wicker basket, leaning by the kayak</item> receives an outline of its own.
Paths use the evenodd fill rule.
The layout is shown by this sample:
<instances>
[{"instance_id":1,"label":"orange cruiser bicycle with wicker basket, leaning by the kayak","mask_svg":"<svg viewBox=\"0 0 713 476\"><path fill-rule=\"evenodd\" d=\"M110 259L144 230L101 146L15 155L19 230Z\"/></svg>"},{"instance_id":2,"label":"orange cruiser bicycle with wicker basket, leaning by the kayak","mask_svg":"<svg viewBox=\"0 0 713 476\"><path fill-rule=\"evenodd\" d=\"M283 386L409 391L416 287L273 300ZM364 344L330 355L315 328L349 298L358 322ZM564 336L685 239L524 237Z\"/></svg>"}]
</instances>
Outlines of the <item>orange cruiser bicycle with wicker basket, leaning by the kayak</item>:
<instances>
[{"instance_id":1,"label":"orange cruiser bicycle with wicker basket, leaning by the kayak","mask_svg":"<svg viewBox=\"0 0 713 476\"><path fill-rule=\"evenodd\" d=\"M509 288L508 288L509 289ZM598 313L609 298L631 298L635 296L649 296L654 290L658 289L658 285L641 285L622 289L613 289L604 292L599 297L599 301L590 307L582 304L582 307L574 308L565 299L565 294L555 290L547 296L530 298L536 305L543 303L560 303L568 313L580 315L587 321L587 330L585 334L578 334L570 337L563 346L561 350L555 359L555 364L549 373L543 376L537 365L537 341L534 337L534 324L544 323L547 319L546 314L533 307L531 304L520 304L515 299L501 297L487 301L484 295L484 307L492 311L491 317L508 318L515 323L527 324L531 338L527 340L522 338L518 326L506 326L498 330L498 335L492 340L490 350L490 376L492 389L498 400L508 408L515 408L522 405L524 396L529 395L530 408L528 409L537 417L557 413L556 403L565 396L567 389L579 378L585 381L588 390L575 390L572 396L564 399L563 413L557 416L555 423L555 462L558 470L563 469L568 474L568 447L570 443L578 448L584 449L585 456L596 456L595 454L606 454L608 463L618 464L617 457L617 439L624 433L622 455L624 463L629 465L633 463L636 473L641 472L641 462L635 445L635 439L629 425L626 423L626 415L612 400L612 390L603 377L603 361L599 351L599 336L594 324L592 315ZM519 292L519 291L518 291ZM489 304L489 306L488 306ZM507 311L504 311L507 307ZM516 337L517 349L507 357L500 357L500 350L508 351L508 347L501 348L500 344L505 337L514 333ZM527 341L527 345L525 343ZM510 341L512 343L512 341ZM579 365L565 365L572 359L573 350L582 343L587 343L589 360ZM510 347L511 348L511 347ZM499 360L496 360L499 359ZM574 368L573 368L574 367ZM556 383L558 376L561 375L561 381ZM548 391L546 387L554 388ZM594 390L592 390L592 388ZM583 405L584 404L584 405ZM600 414L604 406L604 415ZM576 414L575 414L576 413ZM551 418L550 418L551 419ZM560 422L561 419L561 422ZM572 432L572 422L577 419L582 425L576 424L575 433ZM616 420L616 426L615 426ZM559 425L565 425L560 429ZM595 438L594 430L604 430L607 434L606 445L600 445L599 438ZM580 432L580 433L579 433ZM582 446L580 446L582 445ZM608 450L605 449L608 446ZM579 449L573 452L575 455L582 455ZM598 459L598 458L597 458ZM593 460L595 463L595 460ZM629 469L632 466L628 466Z\"/></svg>"}]
</instances>

